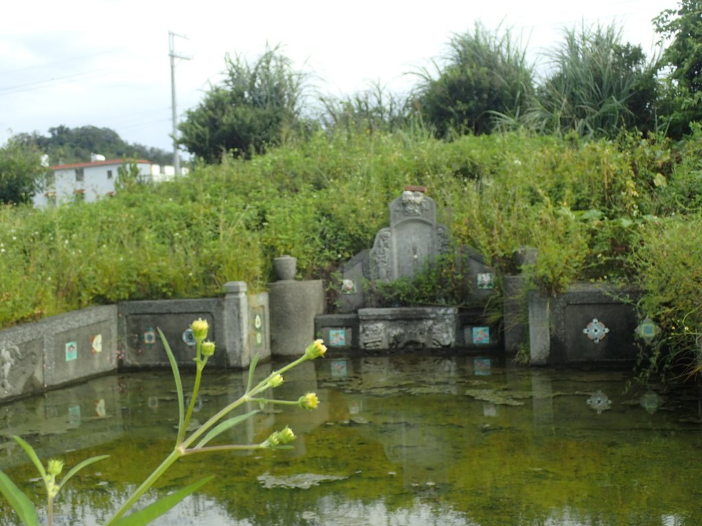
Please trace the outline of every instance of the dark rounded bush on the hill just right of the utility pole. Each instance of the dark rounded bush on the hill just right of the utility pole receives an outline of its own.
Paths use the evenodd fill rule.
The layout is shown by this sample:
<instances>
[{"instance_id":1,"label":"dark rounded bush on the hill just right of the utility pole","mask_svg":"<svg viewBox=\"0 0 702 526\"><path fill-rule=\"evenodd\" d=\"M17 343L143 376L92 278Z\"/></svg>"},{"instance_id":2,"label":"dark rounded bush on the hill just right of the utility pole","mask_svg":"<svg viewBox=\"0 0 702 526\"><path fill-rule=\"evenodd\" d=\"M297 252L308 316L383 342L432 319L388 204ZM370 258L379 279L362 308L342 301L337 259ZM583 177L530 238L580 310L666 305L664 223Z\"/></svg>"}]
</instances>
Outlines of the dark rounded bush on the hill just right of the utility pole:
<instances>
[{"instance_id":1,"label":"dark rounded bush on the hill just right of the utility pole","mask_svg":"<svg viewBox=\"0 0 702 526\"><path fill-rule=\"evenodd\" d=\"M178 142L208 163L223 154L250 157L279 144L300 124L305 75L278 47L255 62L240 55L225 58L225 80L186 113Z\"/></svg>"}]
</instances>

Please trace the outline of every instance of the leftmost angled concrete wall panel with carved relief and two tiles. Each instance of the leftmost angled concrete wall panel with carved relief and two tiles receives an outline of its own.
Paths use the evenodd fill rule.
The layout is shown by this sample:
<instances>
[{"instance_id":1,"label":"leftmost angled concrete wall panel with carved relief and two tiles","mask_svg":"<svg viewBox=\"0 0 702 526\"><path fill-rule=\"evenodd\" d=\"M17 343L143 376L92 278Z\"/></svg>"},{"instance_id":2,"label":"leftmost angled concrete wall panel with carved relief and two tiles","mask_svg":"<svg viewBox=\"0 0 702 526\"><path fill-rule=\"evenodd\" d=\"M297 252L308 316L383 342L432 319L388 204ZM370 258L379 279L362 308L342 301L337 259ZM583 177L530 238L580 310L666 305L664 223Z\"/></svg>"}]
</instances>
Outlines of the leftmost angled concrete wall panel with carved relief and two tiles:
<instances>
[{"instance_id":1,"label":"leftmost angled concrete wall panel with carved relief and two tiles","mask_svg":"<svg viewBox=\"0 0 702 526\"><path fill-rule=\"evenodd\" d=\"M0 331L0 400L117 370L117 306Z\"/></svg>"}]
</instances>

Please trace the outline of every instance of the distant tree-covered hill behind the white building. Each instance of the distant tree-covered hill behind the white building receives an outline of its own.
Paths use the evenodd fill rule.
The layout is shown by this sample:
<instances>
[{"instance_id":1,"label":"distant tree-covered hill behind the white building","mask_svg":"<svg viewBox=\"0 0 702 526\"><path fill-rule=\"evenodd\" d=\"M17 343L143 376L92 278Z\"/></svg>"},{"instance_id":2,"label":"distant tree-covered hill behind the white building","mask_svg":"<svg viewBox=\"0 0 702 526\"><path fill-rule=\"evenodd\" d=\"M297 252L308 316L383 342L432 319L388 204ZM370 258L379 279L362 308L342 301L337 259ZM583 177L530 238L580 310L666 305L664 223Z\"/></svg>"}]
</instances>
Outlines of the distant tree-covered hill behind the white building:
<instances>
[{"instance_id":1,"label":"distant tree-covered hill behind the white building","mask_svg":"<svg viewBox=\"0 0 702 526\"><path fill-rule=\"evenodd\" d=\"M91 154L102 154L107 159L128 156L158 164L173 163L173 154L142 144L128 144L110 128L68 128L61 125L49 128L48 133L48 137L37 132L20 133L16 138L22 144L36 147L48 155L51 164L86 163L90 161Z\"/></svg>"}]
</instances>

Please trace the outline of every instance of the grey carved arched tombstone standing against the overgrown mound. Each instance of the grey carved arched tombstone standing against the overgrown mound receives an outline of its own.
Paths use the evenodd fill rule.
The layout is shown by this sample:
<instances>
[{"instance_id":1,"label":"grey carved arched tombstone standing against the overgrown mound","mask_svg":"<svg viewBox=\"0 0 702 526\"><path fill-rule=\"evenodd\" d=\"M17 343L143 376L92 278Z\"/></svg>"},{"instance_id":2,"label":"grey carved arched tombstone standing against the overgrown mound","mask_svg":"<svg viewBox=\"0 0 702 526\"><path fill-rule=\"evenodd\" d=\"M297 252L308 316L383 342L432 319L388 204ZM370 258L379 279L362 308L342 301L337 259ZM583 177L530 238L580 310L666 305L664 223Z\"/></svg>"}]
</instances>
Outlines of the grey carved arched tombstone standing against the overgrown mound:
<instances>
[{"instance_id":1,"label":"grey carved arched tombstone standing against the overgrown mound","mask_svg":"<svg viewBox=\"0 0 702 526\"><path fill-rule=\"evenodd\" d=\"M436 203L424 187L406 187L390 203L390 227L380 229L371 249L371 278L413 278L437 255L449 251L446 227L437 224Z\"/></svg>"}]
</instances>

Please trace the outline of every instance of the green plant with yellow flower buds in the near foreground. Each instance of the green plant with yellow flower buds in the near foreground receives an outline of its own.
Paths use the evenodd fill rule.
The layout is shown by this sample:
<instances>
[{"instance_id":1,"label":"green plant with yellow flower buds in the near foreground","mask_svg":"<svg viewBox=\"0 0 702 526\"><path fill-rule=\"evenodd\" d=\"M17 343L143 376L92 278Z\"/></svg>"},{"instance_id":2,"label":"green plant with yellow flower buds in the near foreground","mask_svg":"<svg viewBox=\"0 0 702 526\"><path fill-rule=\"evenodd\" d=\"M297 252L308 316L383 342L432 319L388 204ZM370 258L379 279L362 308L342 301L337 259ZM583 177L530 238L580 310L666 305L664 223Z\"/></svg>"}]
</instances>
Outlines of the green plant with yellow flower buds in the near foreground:
<instances>
[{"instance_id":1,"label":"green plant with yellow flower buds in the near foreground","mask_svg":"<svg viewBox=\"0 0 702 526\"><path fill-rule=\"evenodd\" d=\"M265 379L258 382L258 384L253 385L253 376L256 370L256 364L258 363L258 355L251 359L251 364L249 365L249 377L246 384L246 391L237 400L234 400L229 405L223 407L219 412L213 415L204 424L201 424L194 429L190 435L188 435L190 417L195 407L197 400L197 395L199 392L199 386L202 377L202 371L207 363L208 358L213 356L215 352L215 344L213 342L206 341L208 332L208 323L202 319L193 321L190 325L192 329L192 334L195 341L197 342L196 353L194 362L196 364L196 373L194 385L192 388L192 393L190 396L190 404L185 410L185 396L183 393L183 383L180 380L180 372L178 370L178 363L176 363L176 358L173 356L173 351L168 345L168 341L164 336L164 333L159 329L159 335L161 335L161 342L164 344L166 353L168 354L168 360L171 363L171 369L173 370L173 378L176 382L176 389L178 391L178 434L176 436L176 445L173 447L173 451L168 454L164 461L159 464L157 468L152 471L150 476L148 476L143 483L131 494L131 496L124 501L124 504L119 506L117 511L114 512L112 517L105 522L105 526L136 526L145 525L152 520L163 515L169 509L176 506L180 501L185 499L188 495L196 492L201 486L212 480L213 476L206 476L201 478L195 483L183 487L182 489L168 494L153 504L146 506L138 511L132 511L127 514L133 506L139 501L139 499L153 487L154 483L161 478L161 476L166 473L169 467L173 465L181 457L190 456L193 454L215 452L215 451L233 451L233 450L261 450L261 449L272 449L281 450L289 449L292 446L288 445L292 440L295 439L295 433L288 427L285 426L284 429L279 431L274 431L268 436L263 442L258 444L223 444L223 445L210 445L213 439L220 436L222 433L231 429L233 426L237 426L242 422L253 417L254 414L260 412L260 410L253 410L246 412L244 414L237 414L236 416L230 416L234 410L237 410L241 405L245 403L258 403L261 408L269 404L277 405L297 405L305 410L314 410L319 405L319 399L316 393L305 393L300 396L298 400L275 400L272 398L266 398L264 393L267 389L272 387L280 386L284 382L283 373L300 365L307 360L314 360L320 356L324 356L326 353L326 346L321 339L317 339L310 346L307 346L303 356L300 356L297 360L285 365L279 370L273 371ZM17 442L20 447L27 453L29 459L32 460L34 466L37 467L41 480L44 481L46 486L46 513L48 516L48 526L53 525L53 501L57 497L58 493L62 487L67 483L67 481L72 478L76 473L81 471L81 469L94 464L97 461L106 459L109 455L99 455L97 457L91 457L84 461L81 461L77 466L74 466L68 473L58 481L57 478L63 470L63 461L60 459L50 459L47 462L46 468L41 461L34 448L29 445L29 443L22 440L19 436L14 436L15 442ZM37 512L34 503L23 493L13 482L6 476L5 473L0 471L0 492L7 499L9 504L15 510L18 518L25 526L39 526L39 514Z\"/></svg>"}]
</instances>

